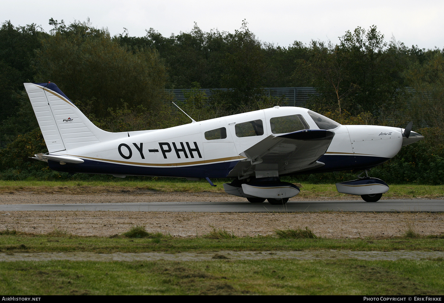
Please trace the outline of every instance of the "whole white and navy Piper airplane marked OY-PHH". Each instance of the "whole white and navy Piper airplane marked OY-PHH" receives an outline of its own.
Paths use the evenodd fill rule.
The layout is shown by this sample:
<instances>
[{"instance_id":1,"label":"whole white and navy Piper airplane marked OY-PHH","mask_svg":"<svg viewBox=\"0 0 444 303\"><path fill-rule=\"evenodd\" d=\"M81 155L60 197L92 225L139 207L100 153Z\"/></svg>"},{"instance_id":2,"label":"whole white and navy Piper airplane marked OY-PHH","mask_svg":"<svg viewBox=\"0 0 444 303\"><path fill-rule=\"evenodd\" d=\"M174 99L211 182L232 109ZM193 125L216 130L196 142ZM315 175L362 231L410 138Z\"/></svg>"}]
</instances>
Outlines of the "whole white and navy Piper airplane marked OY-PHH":
<instances>
[{"instance_id":1,"label":"whole white and navy Piper airplane marked OY-PHH","mask_svg":"<svg viewBox=\"0 0 444 303\"><path fill-rule=\"evenodd\" d=\"M48 154L34 159L70 173L232 178L227 194L252 203L285 204L299 193L287 175L359 170L365 177L337 183L341 193L377 202L389 186L367 169L423 138L412 124L395 128L341 125L309 109L275 106L232 116L136 132L106 132L54 83L24 83ZM361 173L362 175L362 173Z\"/></svg>"}]
</instances>

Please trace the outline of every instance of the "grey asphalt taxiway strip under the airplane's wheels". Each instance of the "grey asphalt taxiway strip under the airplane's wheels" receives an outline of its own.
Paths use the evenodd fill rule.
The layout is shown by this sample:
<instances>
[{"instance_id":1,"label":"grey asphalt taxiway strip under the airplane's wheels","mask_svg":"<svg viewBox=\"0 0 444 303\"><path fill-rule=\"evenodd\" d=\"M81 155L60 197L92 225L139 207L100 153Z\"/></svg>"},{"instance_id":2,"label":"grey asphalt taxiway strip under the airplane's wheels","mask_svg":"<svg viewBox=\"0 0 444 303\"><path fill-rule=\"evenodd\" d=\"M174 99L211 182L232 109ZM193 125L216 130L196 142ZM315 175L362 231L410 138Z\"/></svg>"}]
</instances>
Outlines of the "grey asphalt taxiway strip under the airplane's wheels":
<instances>
[{"instance_id":1,"label":"grey asphalt taxiway strip under the airplane's wheels","mask_svg":"<svg viewBox=\"0 0 444 303\"><path fill-rule=\"evenodd\" d=\"M70 204L3 204L8 211L170 211L170 212L444 212L444 200L362 200L289 201L285 205L249 202L126 202Z\"/></svg>"}]
</instances>

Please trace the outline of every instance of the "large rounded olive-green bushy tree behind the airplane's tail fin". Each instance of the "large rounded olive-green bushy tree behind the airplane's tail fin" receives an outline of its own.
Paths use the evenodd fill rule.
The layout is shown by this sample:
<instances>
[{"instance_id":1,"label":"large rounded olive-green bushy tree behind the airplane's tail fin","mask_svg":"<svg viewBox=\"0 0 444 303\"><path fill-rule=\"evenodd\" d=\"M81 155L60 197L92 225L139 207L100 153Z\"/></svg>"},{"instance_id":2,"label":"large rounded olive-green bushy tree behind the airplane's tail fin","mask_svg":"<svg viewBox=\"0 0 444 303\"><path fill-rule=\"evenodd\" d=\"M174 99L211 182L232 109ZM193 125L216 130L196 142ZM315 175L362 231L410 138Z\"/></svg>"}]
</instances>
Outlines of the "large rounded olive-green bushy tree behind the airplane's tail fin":
<instances>
[{"instance_id":1,"label":"large rounded olive-green bushy tree behind the airplane's tail fin","mask_svg":"<svg viewBox=\"0 0 444 303\"><path fill-rule=\"evenodd\" d=\"M37 52L38 82L55 82L71 99L95 97L93 113L108 108L155 107L165 97L166 70L155 50L134 50L111 39L106 29L75 21L54 25Z\"/></svg>"}]
</instances>

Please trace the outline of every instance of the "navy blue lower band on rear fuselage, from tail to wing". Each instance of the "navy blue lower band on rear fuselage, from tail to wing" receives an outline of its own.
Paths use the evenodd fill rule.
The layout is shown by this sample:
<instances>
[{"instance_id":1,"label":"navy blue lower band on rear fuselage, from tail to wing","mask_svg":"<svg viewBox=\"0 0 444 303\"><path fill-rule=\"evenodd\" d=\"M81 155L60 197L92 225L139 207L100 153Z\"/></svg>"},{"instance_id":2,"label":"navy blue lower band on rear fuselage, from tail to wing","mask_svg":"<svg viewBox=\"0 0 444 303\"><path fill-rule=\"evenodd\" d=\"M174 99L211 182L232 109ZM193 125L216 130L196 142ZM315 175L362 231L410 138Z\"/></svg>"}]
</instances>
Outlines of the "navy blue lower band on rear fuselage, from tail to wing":
<instances>
[{"instance_id":1,"label":"navy blue lower band on rear fuselage, from tail to wing","mask_svg":"<svg viewBox=\"0 0 444 303\"><path fill-rule=\"evenodd\" d=\"M49 167L54 171L105 175L136 175L159 177L193 177L193 178L226 178L228 173L239 161L209 163L182 167L147 167L118 163L109 163L83 159L84 163L66 163L48 160Z\"/></svg>"}]
</instances>

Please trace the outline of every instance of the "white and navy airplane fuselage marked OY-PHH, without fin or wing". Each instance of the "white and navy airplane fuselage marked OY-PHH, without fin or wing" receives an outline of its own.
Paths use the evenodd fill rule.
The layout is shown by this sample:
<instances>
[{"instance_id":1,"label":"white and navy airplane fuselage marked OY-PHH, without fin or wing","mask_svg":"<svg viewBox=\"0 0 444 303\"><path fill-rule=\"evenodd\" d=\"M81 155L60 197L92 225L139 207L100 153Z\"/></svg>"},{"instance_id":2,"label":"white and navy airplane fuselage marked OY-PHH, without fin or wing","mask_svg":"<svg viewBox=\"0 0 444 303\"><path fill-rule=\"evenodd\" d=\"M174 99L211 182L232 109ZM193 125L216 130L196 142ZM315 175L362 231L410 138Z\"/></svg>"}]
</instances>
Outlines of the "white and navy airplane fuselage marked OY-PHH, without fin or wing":
<instances>
[{"instance_id":1,"label":"white and navy airplane fuselage marked OY-PHH, without fin or wing","mask_svg":"<svg viewBox=\"0 0 444 303\"><path fill-rule=\"evenodd\" d=\"M194 178L236 177L230 171L246 160L242 151L254 146L273 132L273 118L300 115L309 129L319 129L308 109L275 107L233 116L205 120L173 128L147 132L122 132L121 137L59 151L84 160L80 164L48 161L56 171L111 175L153 175ZM262 121L263 132L239 136L236 125ZM75 123L75 122L72 122ZM332 125L330 127L333 127ZM225 128L224 137L209 137L207 132ZM319 159L324 166L302 173L367 169L398 153L403 136L401 128L373 125L340 125L332 128L333 140ZM277 168L279 171L281 167ZM297 172L296 172L297 173ZM301 172L299 172L301 173ZM280 175L291 175L292 172Z\"/></svg>"}]
</instances>

